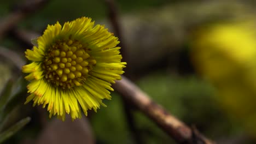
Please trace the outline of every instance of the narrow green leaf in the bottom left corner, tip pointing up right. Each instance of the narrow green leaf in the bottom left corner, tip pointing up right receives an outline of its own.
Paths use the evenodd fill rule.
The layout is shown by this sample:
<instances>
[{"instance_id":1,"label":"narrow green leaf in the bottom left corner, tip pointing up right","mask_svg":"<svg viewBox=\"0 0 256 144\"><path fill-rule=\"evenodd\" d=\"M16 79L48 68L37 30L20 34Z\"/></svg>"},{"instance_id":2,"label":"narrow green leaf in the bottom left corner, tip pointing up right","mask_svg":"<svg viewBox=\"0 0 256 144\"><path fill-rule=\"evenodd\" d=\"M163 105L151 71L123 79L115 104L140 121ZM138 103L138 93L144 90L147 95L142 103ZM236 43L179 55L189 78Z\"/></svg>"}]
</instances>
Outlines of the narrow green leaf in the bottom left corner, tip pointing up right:
<instances>
[{"instance_id":1,"label":"narrow green leaf in the bottom left corner, tip pointing up right","mask_svg":"<svg viewBox=\"0 0 256 144\"><path fill-rule=\"evenodd\" d=\"M17 131L22 129L28 122L30 122L31 118L26 117L21 119L18 123L11 126L8 130L5 130L0 134L0 143L3 143L5 140L9 139L9 137L13 136Z\"/></svg>"}]
</instances>

